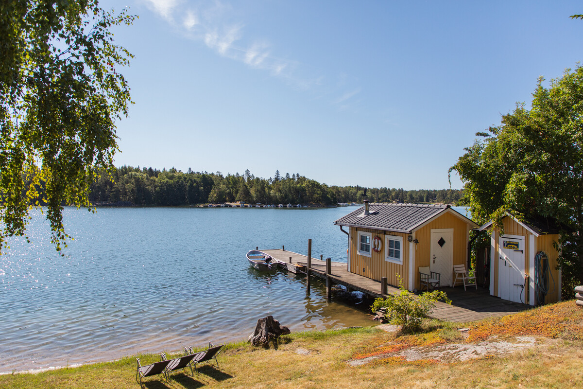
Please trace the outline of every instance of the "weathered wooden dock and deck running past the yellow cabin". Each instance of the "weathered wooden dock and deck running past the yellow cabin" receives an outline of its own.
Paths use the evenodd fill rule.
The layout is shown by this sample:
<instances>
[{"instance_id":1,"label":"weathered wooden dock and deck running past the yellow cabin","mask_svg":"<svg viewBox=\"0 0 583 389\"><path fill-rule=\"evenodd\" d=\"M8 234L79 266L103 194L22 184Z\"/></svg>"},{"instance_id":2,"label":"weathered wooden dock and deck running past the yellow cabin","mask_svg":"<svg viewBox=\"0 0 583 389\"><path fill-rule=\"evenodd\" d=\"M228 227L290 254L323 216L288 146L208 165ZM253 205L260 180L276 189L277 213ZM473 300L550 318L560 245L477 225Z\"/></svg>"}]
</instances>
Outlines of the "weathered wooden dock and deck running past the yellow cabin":
<instances>
[{"instance_id":1,"label":"weathered wooden dock and deck running past the yellow cabin","mask_svg":"<svg viewBox=\"0 0 583 389\"><path fill-rule=\"evenodd\" d=\"M261 251L271 255L280 264L285 264L286 269L289 271L294 273L305 273L307 271L306 255L282 249ZM343 285L348 290L358 290L373 298L388 297L388 295L399 293L398 288L389 285L387 286L388 295L382 295L380 282L348 272L348 265L342 262L331 262L331 274L326 274L326 261L312 258L310 271L311 275L324 279L328 288L333 284ZM528 305L512 303L490 296L489 290L480 287L476 290L475 286L471 286L467 290L463 290L463 286L456 286L455 288L444 287L440 288L440 290L447 293L452 304L437 302L431 317L444 321L467 323L529 309Z\"/></svg>"}]
</instances>

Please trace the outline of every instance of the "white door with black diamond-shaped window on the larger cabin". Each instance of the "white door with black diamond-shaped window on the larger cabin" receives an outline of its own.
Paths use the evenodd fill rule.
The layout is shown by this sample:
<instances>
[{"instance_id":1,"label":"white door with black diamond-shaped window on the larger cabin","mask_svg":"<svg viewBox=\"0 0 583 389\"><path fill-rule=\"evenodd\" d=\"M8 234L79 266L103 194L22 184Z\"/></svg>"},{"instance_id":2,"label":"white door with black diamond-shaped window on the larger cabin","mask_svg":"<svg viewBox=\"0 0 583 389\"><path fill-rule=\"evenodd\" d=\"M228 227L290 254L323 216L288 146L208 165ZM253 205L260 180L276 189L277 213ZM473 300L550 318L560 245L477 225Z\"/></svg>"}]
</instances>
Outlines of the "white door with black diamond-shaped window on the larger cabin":
<instances>
[{"instance_id":1,"label":"white door with black diamond-shaped window on the larger cabin","mask_svg":"<svg viewBox=\"0 0 583 389\"><path fill-rule=\"evenodd\" d=\"M454 272L454 229L431 230L431 257L429 267L440 275L440 285L452 283Z\"/></svg>"}]
</instances>

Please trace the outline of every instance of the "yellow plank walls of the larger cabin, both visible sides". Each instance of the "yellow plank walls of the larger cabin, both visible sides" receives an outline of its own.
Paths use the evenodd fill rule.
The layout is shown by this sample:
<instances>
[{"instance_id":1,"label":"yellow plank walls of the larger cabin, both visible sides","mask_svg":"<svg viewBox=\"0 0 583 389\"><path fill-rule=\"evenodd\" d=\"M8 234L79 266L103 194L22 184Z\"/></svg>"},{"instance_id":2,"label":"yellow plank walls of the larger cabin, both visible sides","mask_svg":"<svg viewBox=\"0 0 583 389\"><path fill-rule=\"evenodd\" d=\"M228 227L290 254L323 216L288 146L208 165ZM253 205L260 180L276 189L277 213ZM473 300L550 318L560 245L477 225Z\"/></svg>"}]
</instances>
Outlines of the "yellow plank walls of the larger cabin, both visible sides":
<instances>
[{"instance_id":1,"label":"yellow plank walls of the larger cabin, both visible sides","mask_svg":"<svg viewBox=\"0 0 583 389\"><path fill-rule=\"evenodd\" d=\"M431 230L446 228L454 229L454 265L467 263L468 238L471 226L466 223L465 220L462 220L449 212L445 212L436 220L433 220L413 233L413 237L419 240L419 243L413 243L413 250L415 250L413 288L409 288L409 241L407 240L409 234L389 233L381 230L360 227L356 229L355 227L350 227L350 271L354 274L372 278L377 281L380 281L381 277L387 277L387 282L392 286L399 285L399 281L396 277L396 274L399 274L403 278L403 285L405 285L405 288L409 290L420 289L419 267L429 266L431 256ZM373 251L371 253L372 257L358 254L359 242L357 231L370 232L373 234L373 239L375 236L380 237L383 244L381 252L375 253ZM385 235L403 237L402 265L385 261Z\"/></svg>"}]
</instances>

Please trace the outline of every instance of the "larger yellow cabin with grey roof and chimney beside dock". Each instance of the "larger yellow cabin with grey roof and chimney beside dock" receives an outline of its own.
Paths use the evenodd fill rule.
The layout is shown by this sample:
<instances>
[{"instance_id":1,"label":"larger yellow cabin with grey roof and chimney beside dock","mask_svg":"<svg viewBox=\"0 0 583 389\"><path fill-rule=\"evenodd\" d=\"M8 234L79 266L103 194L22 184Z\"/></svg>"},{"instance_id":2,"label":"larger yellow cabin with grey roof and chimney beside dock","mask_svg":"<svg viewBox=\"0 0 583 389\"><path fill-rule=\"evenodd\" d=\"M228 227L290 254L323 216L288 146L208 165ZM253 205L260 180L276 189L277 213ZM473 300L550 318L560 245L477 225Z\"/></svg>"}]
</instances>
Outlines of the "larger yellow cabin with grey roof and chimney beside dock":
<instances>
[{"instance_id":1,"label":"larger yellow cabin with grey roof and chimney beside dock","mask_svg":"<svg viewBox=\"0 0 583 389\"><path fill-rule=\"evenodd\" d=\"M468 267L469 232L478 225L449 205L368 204L336 220L348 236L348 271L420 289L419 268L440 273L440 286L454 281L453 266ZM343 227L348 227L348 231Z\"/></svg>"}]
</instances>

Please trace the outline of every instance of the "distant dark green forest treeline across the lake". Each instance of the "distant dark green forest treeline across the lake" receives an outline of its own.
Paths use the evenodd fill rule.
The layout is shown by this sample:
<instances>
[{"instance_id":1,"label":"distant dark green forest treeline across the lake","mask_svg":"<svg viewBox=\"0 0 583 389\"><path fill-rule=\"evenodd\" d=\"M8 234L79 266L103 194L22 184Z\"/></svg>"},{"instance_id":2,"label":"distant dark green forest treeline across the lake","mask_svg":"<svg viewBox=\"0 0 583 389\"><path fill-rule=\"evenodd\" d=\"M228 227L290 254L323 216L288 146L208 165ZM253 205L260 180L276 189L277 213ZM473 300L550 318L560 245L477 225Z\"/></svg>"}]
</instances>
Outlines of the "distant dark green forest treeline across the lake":
<instances>
[{"instance_id":1,"label":"distant dark green forest treeline across the lake","mask_svg":"<svg viewBox=\"0 0 583 389\"><path fill-rule=\"evenodd\" d=\"M94 204L128 202L135 205L194 205L243 201L247 204L336 205L340 202L441 202L458 204L462 191L412 190L328 186L299 173L279 171L268 179L255 177L249 170L243 175L195 172L182 173L174 168L122 166L110 179L107 173L92 185L89 200Z\"/></svg>"}]
</instances>

